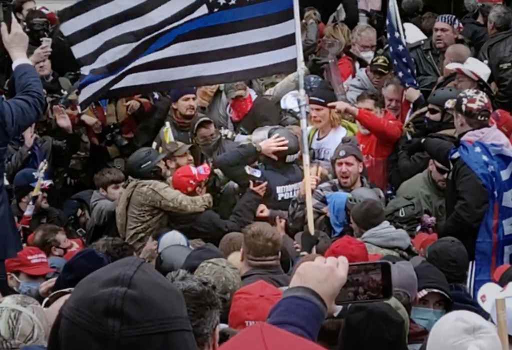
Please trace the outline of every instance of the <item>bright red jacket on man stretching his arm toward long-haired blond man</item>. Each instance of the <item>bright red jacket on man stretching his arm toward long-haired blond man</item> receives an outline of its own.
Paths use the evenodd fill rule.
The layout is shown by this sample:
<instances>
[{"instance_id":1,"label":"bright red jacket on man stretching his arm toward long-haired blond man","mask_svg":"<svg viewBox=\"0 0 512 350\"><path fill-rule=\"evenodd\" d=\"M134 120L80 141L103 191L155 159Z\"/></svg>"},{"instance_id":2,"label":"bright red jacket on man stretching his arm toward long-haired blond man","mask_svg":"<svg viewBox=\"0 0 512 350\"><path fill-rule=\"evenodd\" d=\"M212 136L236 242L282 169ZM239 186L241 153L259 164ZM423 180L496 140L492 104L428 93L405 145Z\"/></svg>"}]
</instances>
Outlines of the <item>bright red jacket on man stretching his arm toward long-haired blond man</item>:
<instances>
[{"instance_id":1,"label":"bright red jacket on man stretching his arm toward long-haired blond man","mask_svg":"<svg viewBox=\"0 0 512 350\"><path fill-rule=\"evenodd\" d=\"M384 113L379 118L368 110L359 109L356 116L360 125L370 131L369 135L363 135L360 131L356 134L359 149L365 157L369 180L382 190L388 187L388 157L402 135L403 127L403 123L393 114L388 111Z\"/></svg>"}]
</instances>

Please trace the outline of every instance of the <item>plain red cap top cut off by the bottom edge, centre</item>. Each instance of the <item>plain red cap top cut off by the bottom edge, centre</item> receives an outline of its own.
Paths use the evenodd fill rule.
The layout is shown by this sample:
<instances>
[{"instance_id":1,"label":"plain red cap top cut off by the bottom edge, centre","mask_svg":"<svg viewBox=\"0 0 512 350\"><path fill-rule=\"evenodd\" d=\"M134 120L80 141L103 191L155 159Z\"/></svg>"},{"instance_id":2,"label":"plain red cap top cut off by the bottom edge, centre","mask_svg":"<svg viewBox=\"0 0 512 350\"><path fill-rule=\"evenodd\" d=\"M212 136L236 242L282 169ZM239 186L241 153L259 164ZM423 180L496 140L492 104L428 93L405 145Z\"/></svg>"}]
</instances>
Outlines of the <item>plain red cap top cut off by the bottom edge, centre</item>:
<instances>
[{"instance_id":1,"label":"plain red cap top cut off by the bottom edge, centre","mask_svg":"<svg viewBox=\"0 0 512 350\"><path fill-rule=\"evenodd\" d=\"M221 345L219 350L325 350L310 340L286 332L268 323L243 330Z\"/></svg>"}]
</instances>

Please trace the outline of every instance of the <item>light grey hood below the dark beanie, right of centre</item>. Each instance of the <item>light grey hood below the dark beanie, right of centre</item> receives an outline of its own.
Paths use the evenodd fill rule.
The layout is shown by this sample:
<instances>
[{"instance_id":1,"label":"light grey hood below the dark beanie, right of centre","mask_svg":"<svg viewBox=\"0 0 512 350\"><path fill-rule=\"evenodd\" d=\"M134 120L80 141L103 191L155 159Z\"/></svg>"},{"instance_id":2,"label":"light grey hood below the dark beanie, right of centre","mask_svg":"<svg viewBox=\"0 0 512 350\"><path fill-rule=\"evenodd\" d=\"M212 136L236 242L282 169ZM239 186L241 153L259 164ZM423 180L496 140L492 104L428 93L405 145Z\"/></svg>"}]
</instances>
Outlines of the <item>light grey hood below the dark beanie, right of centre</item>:
<instances>
[{"instance_id":1,"label":"light grey hood below the dark beanie, right of centre","mask_svg":"<svg viewBox=\"0 0 512 350\"><path fill-rule=\"evenodd\" d=\"M368 254L400 256L397 251L406 251L412 246L409 234L396 229L389 221L366 231L359 239L365 242Z\"/></svg>"}]
</instances>

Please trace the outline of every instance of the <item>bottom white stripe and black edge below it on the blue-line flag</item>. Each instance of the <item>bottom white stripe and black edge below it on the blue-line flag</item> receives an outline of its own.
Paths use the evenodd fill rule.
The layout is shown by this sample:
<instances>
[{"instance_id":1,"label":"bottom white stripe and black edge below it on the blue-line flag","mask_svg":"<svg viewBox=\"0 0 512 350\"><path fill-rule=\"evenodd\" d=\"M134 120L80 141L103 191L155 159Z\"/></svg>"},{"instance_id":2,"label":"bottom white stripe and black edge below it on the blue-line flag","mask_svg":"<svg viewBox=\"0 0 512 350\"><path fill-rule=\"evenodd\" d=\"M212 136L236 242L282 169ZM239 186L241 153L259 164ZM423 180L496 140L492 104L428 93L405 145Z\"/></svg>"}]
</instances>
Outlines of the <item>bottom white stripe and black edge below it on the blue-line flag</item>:
<instances>
[{"instance_id":1,"label":"bottom white stripe and black edge below it on the blue-line flag","mask_svg":"<svg viewBox=\"0 0 512 350\"><path fill-rule=\"evenodd\" d=\"M258 63L258 66L255 66L254 63ZM296 70L296 67L296 49L290 47L274 52L265 52L251 57L250 60L247 60L246 57L238 57L203 65L141 72L126 77L124 81L110 91L96 90L94 85L87 87L82 91L82 94L88 94L88 96L80 96L84 98L80 106L83 110L100 98L130 96L142 91L167 91L176 87L212 85L220 82L248 80L276 73L291 73ZM191 75L188 71L194 71L197 74ZM162 78L167 76L172 76L172 81L165 81ZM102 83L102 81L98 83ZM91 91L88 91L89 89ZM92 95L89 94L90 92Z\"/></svg>"}]
</instances>

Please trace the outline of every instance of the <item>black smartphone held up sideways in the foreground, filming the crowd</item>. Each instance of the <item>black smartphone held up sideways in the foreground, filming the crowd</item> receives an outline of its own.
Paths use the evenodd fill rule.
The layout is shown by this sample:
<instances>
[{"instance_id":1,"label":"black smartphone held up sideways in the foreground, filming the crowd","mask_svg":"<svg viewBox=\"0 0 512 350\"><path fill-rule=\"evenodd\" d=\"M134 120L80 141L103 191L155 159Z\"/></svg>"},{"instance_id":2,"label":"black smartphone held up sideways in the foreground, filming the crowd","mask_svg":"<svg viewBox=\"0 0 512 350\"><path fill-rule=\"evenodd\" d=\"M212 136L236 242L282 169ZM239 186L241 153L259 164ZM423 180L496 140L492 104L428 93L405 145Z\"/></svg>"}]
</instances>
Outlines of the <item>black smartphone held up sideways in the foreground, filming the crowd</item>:
<instances>
[{"instance_id":1,"label":"black smartphone held up sideways in the foreground, filming the crowd","mask_svg":"<svg viewBox=\"0 0 512 350\"><path fill-rule=\"evenodd\" d=\"M336 297L336 305L384 301L392 296L391 263L354 263L349 265L347 283Z\"/></svg>"}]
</instances>

